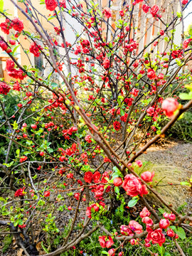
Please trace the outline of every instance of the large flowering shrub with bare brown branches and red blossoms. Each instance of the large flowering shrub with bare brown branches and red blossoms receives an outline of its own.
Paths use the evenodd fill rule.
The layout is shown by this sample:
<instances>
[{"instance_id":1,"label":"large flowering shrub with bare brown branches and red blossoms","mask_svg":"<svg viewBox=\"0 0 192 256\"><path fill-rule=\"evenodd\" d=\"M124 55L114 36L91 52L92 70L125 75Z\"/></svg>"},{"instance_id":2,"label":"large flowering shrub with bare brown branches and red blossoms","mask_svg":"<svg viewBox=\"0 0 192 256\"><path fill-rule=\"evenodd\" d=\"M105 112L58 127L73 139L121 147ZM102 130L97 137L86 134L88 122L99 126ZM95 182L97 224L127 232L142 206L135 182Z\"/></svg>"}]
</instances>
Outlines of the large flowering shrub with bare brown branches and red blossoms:
<instances>
[{"instance_id":1,"label":"large flowering shrub with bare brown branches and red blossoms","mask_svg":"<svg viewBox=\"0 0 192 256\"><path fill-rule=\"evenodd\" d=\"M139 156L192 106L192 33L176 45L173 27L182 24L188 1L179 5L181 14L166 19L160 3L129 1L114 14L114 1L107 7L96 2L41 1L41 14L32 1L11 0L33 33L20 17L0 11L9 75L9 82L0 82L6 147L0 225L13 231L26 255L42 255L39 242L43 255L82 254L80 243L95 233L105 255L123 255L129 246L154 255L155 244L162 254L170 241L181 252L176 239L186 238L183 223L189 225L190 213L181 215L166 202L155 173L141 171ZM150 21L146 31L156 28L146 44L136 32L142 23L136 9L141 21ZM64 29L68 23L75 31L68 18L81 26L74 41ZM167 47L160 52L162 40ZM18 49L34 61L22 63ZM38 60L41 66L33 65ZM7 110L9 97L16 103ZM114 216L115 227L109 223Z\"/></svg>"}]
</instances>

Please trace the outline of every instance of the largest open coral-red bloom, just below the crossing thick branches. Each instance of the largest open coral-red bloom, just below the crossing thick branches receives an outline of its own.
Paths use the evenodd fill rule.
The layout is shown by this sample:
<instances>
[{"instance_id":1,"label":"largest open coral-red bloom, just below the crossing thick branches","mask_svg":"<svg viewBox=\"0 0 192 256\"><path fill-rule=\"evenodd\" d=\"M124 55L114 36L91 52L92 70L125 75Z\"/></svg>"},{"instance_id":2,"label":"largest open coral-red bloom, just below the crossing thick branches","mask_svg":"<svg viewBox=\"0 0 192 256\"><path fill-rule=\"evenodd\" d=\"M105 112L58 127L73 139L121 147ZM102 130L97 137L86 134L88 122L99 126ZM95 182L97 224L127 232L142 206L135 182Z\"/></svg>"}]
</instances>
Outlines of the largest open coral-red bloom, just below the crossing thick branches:
<instances>
[{"instance_id":1,"label":"largest open coral-red bloom, just below the crossing thick branches","mask_svg":"<svg viewBox=\"0 0 192 256\"><path fill-rule=\"evenodd\" d=\"M139 178L134 176L133 174L127 174L124 177L124 182L122 183L122 187L127 192L129 196L143 196L148 193L146 186L142 185Z\"/></svg>"}]
</instances>

